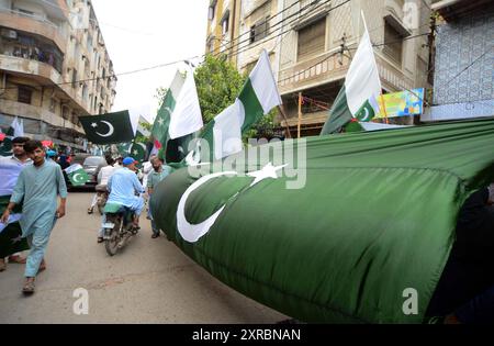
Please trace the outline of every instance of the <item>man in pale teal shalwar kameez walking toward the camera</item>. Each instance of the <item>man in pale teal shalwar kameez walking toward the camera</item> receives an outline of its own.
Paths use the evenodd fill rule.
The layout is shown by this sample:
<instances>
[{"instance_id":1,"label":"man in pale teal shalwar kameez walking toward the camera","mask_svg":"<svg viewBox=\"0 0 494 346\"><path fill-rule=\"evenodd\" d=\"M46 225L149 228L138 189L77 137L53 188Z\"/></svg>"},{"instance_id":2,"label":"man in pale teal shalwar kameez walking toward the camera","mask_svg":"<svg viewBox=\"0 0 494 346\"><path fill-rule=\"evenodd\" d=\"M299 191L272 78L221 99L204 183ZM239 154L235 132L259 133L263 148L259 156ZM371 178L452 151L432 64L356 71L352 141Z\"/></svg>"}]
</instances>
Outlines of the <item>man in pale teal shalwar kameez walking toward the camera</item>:
<instances>
[{"instance_id":1,"label":"man in pale teal shalwar kameez walking toward the camera","mask_svg":"<svg viewBox=\"0 0 494 346\"><path fill-rule=\"evenodd\" d=\"M23 236L27 237L31 253L25 267L24 294L34 293L35 278L46 268L43 257L48 245L55 221L65 216L67 186L60 166L45 159L45 149L40 141L30 141L24 146L33 165L26 166L19 175L10 203L1 222L9 220L15 205L23 202L20 220ZM57 196L60 204L57 208Z\"/></svg>"}]
</instances>

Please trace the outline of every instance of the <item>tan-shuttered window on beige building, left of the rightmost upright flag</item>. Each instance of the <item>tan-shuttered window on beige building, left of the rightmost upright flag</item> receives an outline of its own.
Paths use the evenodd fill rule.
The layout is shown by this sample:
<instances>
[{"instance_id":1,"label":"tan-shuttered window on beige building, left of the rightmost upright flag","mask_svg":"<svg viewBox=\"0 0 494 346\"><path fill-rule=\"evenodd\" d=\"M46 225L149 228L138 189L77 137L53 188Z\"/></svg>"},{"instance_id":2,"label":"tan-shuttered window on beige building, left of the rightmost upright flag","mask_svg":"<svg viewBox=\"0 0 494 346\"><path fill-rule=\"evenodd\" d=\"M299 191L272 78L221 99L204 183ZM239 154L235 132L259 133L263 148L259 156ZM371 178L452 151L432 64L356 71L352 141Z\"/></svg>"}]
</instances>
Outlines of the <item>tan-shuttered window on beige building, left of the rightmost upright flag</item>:
<instances>
[{"instance_id":1,"label":"tan-shuttered window on beige building, left of the rightmost upright flag","mask_svg":"<svg viewBox=\"0 0 494 346\"><path fill-rule=\"evenodd\" d=\"M296 60L305 60L324 53L326 44L326 18L299 30Z\"/></svg>"}]
</instances>

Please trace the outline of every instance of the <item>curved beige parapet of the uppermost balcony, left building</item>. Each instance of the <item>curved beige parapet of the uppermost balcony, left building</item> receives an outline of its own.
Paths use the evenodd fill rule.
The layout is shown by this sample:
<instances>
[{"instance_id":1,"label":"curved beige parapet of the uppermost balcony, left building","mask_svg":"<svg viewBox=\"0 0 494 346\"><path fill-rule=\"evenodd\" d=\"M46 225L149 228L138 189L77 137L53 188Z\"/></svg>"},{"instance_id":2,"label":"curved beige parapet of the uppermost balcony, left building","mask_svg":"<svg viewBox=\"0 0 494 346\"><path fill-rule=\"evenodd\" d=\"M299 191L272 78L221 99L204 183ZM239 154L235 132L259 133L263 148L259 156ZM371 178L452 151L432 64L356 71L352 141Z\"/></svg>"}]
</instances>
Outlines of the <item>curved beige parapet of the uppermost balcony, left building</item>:
<instances>
[{"instance_id":1,"label":"curved beige parapet of the uppermost balcony, left building","mask_svg":"<svg viewBox=\"0 0 494 346\"><path fill-rule=\"evenodd\" d=\"M65 54L67 48L67 37L61 30L50 21L36 16L21 14L18 11L4 10L0 8L0 23L2 26L16 31L27 32L46 37Z\"/></svg>"}]
</instances>

